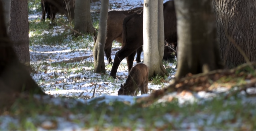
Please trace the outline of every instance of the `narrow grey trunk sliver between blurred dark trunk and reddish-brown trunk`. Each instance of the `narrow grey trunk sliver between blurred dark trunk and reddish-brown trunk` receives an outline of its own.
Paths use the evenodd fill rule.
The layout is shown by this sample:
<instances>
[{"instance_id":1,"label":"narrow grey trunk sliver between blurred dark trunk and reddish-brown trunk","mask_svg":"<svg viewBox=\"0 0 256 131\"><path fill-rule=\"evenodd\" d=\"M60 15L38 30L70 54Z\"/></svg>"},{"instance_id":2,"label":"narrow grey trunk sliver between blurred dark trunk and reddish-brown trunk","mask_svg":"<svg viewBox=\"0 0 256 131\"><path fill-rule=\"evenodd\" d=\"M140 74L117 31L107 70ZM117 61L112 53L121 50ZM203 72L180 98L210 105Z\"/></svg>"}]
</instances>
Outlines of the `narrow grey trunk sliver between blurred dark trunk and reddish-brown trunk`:
<instances>
[{"instance_id":1,"label":"narrow grey trunk sliver between blurred dark trunk and reddish-brown trunk","mask_svg":"<svg viewBox=\"0 0 256 131\"><path fill-rule=\"evenodd\" d=\"M9 32L9 24L10 24L10 14L11 14L11 0L2 0L3 2L3 9L4 9L4 20L5 20L5 27L7 29L7 34Z\"/></svg>"}]
</instances>

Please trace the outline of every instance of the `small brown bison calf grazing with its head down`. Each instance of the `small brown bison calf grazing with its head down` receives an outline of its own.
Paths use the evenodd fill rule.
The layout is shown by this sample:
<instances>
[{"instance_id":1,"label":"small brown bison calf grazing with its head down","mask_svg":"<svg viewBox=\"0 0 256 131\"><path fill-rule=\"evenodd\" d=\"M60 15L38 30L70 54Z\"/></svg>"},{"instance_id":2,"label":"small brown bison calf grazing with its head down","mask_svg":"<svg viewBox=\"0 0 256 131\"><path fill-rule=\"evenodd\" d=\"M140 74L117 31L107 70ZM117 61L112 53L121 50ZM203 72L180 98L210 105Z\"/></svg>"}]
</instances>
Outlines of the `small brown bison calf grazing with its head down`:
<instances>
[{"instance_id":1,"label":"small brown bison calf grazing with its head down","mask_svg":"<svg viewBox=\"0 0 256 131\"><path fill-rule=\"evenodd\" d=\"M118 95L137 96L139 90L141 94L148 93L148 71L148 66L143 63L133 66L125 84L121 84Z\"/></svg>"}]
</instances>

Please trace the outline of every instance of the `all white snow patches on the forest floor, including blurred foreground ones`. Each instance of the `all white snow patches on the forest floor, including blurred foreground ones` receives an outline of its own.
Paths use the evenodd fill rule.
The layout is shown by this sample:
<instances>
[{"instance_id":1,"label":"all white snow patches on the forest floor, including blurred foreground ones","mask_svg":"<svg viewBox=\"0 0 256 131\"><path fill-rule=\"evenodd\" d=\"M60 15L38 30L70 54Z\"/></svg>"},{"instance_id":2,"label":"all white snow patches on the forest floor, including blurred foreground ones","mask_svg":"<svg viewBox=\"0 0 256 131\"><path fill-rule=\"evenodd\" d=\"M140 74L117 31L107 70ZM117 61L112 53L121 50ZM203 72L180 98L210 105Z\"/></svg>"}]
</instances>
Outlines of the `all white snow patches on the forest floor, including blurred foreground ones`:
<instances>
[{"instance_id":1,"label":"all white snow patches on the forest floor, including blurred foreground ones","mask_svg":"<svg viewBox=\"0 0 256 131\"><path fill-rule=\"evenodd\" d=\"M166 2L167 0L164 0ZM143 6L143 0L109 0L110 3L110 10L127 10L134 7ZM99 11L100 8L100 1L91 3L91 11ZM34 13L29 14L29 20L34 19L40 19L41 14L40 13ZM57 17L59 18L59 17ZM41 33L42 40L44 39L44 35L46 36L58 36L62 33L69 32L69 30L66 30L63 26L54 26L53 30L50 31L43 31ZM30 31L29 36L30 39L34 37L35 35L38 35L37 32ZM42 89L55 97L58 96L73 96L78 97L82 99L77 99L76 101L69 100L69 99L60 99L60 98L48 98L46 97L43 101L47 103L55 103L56 105L61 105L63 101L67 101L71 105L76 102L81 103L90 103L90 101L94 101L95 99L99 99L98 104L105 102L110 103L112 101L125 101L128 102L130 105L133 105L135 103L136 98L139 97L147 97L148 94L139 95L137 97L131 97L131 96L117 96L117 92L119 90L120 84L124 83L127 75L128 75L128 69L126 65L126 59L124 59L121 64L119 65L119 68L117 70L117 78L112 79L109 78L111 66L108 66L108 61L106 57L105 59L105 65L106 65L106 74L97 74L93 73L93 57L92 57L92 48L93 43L90 42L89 38L85 38L86 43L89 43L88 45L85 45L84 41L73 41L71 38L71 35L65 36L64 42L59 45L51 45L51 44L37 44L37 41L32 41L30 46L30 62L31 65L36 69L36 73L31 74L32 78L38 82L39 86L42 87ZM73 45L73 46L70 46ZM116 51L120 49L119 43L116 41L113 42L112 46L112 60L114 59ZM88 58L76 62L76 63L69 63L69 64L61 64L57 65L54 64L55 62L61 62L69 59L73 59L76 57L83 57L83 56L89 56ZM143 61L143 53L141 54L141 60ZM47 63L47 64L45 64ZM136 62L134 61L133 65L135 65ZM165 66L168 66L169 68L172 68L172 72L170 75L162 80L161 84L153 84L152 82L149 82L148 88L150 93L153 90L162 89L164 86L168 85L170 80L174 78L176 69L175 65L173 63L167 63ZM92 98L93 90L95 90L95 98ZM165 102L170 101L174 97L177 98L178 103L182 106L185 102L198 102L209 100L212 97L218 96L218 93L227 92L228 88L217 88L215 92L208 93L208 92L198 92L198 93L191 93L191 92L182 92L182 93L170 93L166 96L164 96L162 99L159 99L157 102ZM249 92L255 92L254 88L248 89ZM244 92L241 93L241 95L244 95ZM39 99L37 96L35 96L37 99ZM255 104L255 97L252 98L243 98L242 103L244 104ZM40 100L42 100L40 98ZM199 102L200 103L200 102ZM210 125L214 120L218 120L218 122L223 122L226 119L230 119L230 111L227 112L221 112L219 116L214 116L210 114L204 114L204 113L198 113L194 116L187 117L183 120L181 124L181 128L184 130L189 131L197 131L202 128L199 128L203 125ZM228 117L229 116L229 117ZM93 128L90 129L84 129L83 122L86 121L86 118L89 118L89 116L85 115L68 115L68 119L65 118L56 118L57 120L57 127L55 130L86 130L91 131L94 130ZM163 119L166 119L169 123L178 121L182 118L182 115L170 115L166 114L163 116ZM40 126L37 127L37 130L44 131L47 130L46 127L49 126L56 126L55 123L51 122L49 120L49 117L47 116L41 116L38 115L36 117L40 122ZM107 116L105 116L106 119ZM78 119L79 122L70 122L70 119ZM10 117L8 115L6 116L0 116L0 129L6 130L10 123L18 125L19 120L16 118ZM31 120L30 120L31 121ZM138 125L141 122L141 120L137 120ZM142 120L143 121L143 120ZM109 123L110 124L110 123ZM164 122L162 121L156 121L155 123L157 126L161 127L164 126ZM232 128L245 126L245 124L241 124L241 121L236 121L232 124L229 124L229 126ZM143 125L143 124L141 124ZM106 126L108 126L106 124ZM244 129L245 129L244 128ZM205 130L218 130L218 128L211 128L211 127L205 127L203 128ZM143 131L140 126L137 128L138 131Z\"/></svg>"}]
</instances>

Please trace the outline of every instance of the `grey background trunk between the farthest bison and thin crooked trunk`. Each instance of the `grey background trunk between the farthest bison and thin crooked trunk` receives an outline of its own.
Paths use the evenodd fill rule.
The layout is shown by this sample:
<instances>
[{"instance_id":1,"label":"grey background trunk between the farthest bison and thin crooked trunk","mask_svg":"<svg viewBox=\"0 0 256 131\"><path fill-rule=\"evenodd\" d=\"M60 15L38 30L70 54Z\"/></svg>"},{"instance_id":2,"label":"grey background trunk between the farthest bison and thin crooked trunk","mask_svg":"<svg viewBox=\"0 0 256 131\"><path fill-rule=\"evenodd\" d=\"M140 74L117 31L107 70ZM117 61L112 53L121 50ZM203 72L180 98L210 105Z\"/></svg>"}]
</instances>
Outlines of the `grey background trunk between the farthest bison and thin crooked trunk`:
<instances>
[{"instance_id":1,"label":"grey background trunk between the farthest bison and thin crooked trunk","mask_svg":"<svg viewBox=\"0 0 256 131\"><path fill-rule=\"evenodd\" d=\"M94 33L90 14L90 0L76 0L74 30L81 33Z\"/></svg>"}]
</instances>

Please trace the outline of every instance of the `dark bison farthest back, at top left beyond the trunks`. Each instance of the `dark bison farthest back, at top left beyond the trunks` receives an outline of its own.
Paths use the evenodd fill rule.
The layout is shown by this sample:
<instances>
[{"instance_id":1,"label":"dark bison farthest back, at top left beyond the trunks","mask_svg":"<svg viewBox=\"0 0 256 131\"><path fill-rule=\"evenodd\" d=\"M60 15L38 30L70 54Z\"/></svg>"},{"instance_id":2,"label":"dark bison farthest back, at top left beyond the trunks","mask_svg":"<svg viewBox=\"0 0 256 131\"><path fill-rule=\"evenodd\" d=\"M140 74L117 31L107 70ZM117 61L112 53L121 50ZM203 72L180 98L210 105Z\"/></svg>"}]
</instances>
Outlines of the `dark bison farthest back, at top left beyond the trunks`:
<instances>
[{"instance_id":1,"label":"dark bison farthest back, at top left beyond the trunks","mask_svg":"<svg viewBox=\"0 0 256 131\"><path fill-rule=\"evenodd\" d=\"M75 3L75 0L41 0L41 7L42 7L41 21L45 20L46 13L47 13L47 18L50 18L51 22L53 22L57 13L65 14L67 18L74 19L75 7L70 6L70 5L73 5L73 3Z\"/></svg>"}]
</instances>

